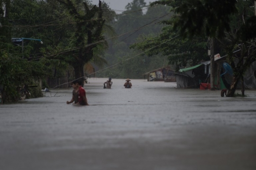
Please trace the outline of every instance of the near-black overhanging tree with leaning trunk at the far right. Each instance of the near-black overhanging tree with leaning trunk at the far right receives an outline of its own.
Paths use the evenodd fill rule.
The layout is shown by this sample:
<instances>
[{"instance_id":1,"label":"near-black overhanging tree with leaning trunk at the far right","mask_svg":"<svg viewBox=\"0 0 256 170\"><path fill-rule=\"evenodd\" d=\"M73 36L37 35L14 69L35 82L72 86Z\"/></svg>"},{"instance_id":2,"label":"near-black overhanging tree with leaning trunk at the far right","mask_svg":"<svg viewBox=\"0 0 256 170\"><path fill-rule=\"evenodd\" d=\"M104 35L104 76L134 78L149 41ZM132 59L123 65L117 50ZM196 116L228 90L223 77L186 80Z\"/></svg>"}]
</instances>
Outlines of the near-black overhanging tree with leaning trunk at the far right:
<instances>
[{"instance_id":1,"label":"near-black overhanging tree with leaning trunk at the far right","mask_svg":"<svg viewBox=\"0 0 256 170\"><path fill-rule=\"evenodd\" d=\"M242 80L243 73L256 60L256 17L253 13L253 2L254 0L161 0L153 2L151 6L162 4L174 7L175 15L164 23L170 25L170 29L183 38L182 41L178 42L180 45L177 44L175 50L179 54L182 54L180 50L185 45L183 44L184 40L189 40L188 43L198 40L197 43L201 47L203 44L200 43L199 37L206 36L218 40L222 50L228 54L227 60L234 71L233 81L227 94L227 96L232 97L238 81ZM161 36L165 35L165 29L158 39L148 39L146 43L139 44L137 47L146 49L160 44L163 39ZM168 38L173 42L175 40L172 39L174 37L172 33L170 31L170 34L165 35L165 37L169 35ZM197 43L193 43L192 48L186 49L198 51L195 46ZM203 50L203 48L201 49ZM240 53L234 54L233 52L238 49L240 49ZM166 51L175 56L173 55L174 50L168 50L167 46L161 45L160 49L150 52ZM186 57L186 55L170 57L170 62L177 61L177 59L178 61L188 61ZM196 60L195 57L192 61L199 60Z\"/></svg>"}]
</instances>

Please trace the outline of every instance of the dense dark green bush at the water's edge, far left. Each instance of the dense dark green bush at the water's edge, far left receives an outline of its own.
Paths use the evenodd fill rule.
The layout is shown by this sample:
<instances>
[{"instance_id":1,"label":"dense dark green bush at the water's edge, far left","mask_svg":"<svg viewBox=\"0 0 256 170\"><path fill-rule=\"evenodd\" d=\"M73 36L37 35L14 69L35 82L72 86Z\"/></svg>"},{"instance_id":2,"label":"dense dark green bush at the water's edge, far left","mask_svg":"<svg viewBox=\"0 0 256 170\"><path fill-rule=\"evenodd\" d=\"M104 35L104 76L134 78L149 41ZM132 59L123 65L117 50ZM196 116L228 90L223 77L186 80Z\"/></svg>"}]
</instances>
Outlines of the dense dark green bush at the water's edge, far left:
<instances>
[{"instance_id":1,"label":"dense dark green bush at the water's edge, far left","mask_svg":"<svg viewBox=\"0 0 256 170\"><path fill-rule=\"evenodd\" d=\"M37 85L34 80L44 75L42 67L38 62L30 62L20 57L2 52L0 55L0 84L3 85L5 102L17 101L19 93L18 86ZM39 71L42 72L39 72ZM40 91L40 92L38 92ZM41 89L33 90L32 97L41 97Z\"/></svg>"}]
</instances>

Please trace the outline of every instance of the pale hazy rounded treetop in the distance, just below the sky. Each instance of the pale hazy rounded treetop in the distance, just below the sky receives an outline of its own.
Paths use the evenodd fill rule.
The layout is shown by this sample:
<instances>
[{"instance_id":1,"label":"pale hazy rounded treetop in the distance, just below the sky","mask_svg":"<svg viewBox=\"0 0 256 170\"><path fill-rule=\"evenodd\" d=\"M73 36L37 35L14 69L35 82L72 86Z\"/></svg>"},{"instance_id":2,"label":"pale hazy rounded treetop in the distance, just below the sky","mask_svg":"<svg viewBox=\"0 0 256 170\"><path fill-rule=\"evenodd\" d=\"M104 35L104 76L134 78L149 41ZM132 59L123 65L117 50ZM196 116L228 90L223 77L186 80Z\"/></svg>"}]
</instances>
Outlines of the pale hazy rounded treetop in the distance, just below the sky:
<instances>
[{"instance_id":1,"label":"pale hazy rounded treetop in the distance, just below the sky","mask_svg":"<svg viewBox=\"0 0 256 170\"><path fill-rule=\"evenodd\" d=\"M146 14L143 14L142 8L146 7L144 0L133 0L126 6L126 11L116 17L117 22L114 28L120 41L127 44L134 43L141 34L158 33L162 26L159 23L166 19L169 14L169 7L157 6L149 8Z\"/></svg>"}]
</instances>

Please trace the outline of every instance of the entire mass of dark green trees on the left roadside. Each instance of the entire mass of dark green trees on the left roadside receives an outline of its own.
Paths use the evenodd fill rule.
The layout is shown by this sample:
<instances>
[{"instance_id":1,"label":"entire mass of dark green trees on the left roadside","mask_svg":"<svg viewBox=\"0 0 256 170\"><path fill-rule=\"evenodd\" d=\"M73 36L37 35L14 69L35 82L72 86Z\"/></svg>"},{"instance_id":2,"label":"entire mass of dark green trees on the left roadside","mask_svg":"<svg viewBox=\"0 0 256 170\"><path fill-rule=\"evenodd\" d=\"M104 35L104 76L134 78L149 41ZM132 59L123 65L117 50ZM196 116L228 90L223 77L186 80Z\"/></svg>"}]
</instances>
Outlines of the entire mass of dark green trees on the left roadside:
<instances>
[{"instance_id":1,"label":"entire mass of dark green trees on the left roadside","mask_svg":"<svg viewBox=\"0 0 256 170\"><path fill-rule=\"evenodd\" d=\"M111 31L106 23L114 13L107 4L92 6L87 0L1 0L0 4L8 9L5 16L0 10L0 87L4 91L57 76L56 71L65 75L69 65L75 69L75 78L83 78L85 63L106 63L104 34ZM11 42L21 37L22 43ZM12 72L7 74L6 67ZM17 95L14 90L5 96Z\"/></svg>"}]
</instances>

